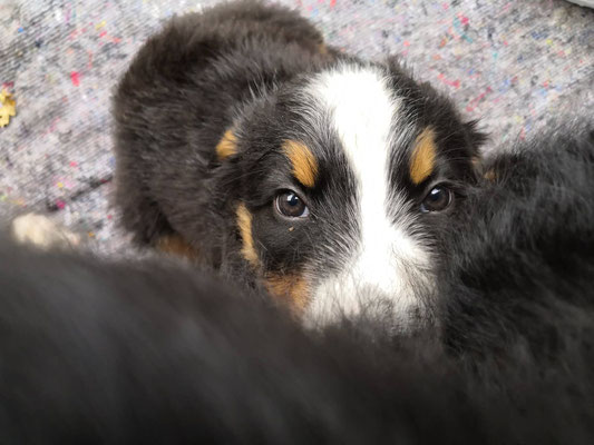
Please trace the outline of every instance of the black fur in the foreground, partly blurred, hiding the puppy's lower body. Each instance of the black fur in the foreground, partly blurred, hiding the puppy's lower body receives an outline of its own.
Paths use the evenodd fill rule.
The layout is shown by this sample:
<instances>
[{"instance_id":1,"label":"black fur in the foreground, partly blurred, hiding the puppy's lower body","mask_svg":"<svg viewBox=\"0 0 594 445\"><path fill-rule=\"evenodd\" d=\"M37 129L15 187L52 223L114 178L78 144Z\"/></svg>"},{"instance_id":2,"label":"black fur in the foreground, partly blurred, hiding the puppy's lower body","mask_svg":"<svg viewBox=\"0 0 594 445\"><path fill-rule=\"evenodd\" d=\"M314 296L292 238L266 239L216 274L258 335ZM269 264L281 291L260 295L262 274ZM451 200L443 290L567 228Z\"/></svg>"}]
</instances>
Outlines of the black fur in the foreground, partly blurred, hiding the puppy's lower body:
<instances>
[{"instance_id":1,"label":"black fur in the foreground, partly blurred, hiding the puppy's lower body","mask_svg":"<svg viewBox=\"0 0 594 445\"><path fill-rule=\"evenodd\" d=\"M308 333L196 270L0 249L2 443L594 439L594 134L498 156L439 324Z\"/></svg>"}]
</instances>

